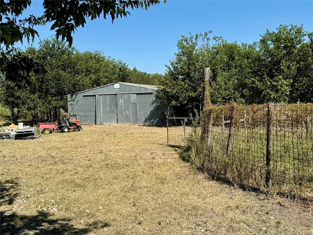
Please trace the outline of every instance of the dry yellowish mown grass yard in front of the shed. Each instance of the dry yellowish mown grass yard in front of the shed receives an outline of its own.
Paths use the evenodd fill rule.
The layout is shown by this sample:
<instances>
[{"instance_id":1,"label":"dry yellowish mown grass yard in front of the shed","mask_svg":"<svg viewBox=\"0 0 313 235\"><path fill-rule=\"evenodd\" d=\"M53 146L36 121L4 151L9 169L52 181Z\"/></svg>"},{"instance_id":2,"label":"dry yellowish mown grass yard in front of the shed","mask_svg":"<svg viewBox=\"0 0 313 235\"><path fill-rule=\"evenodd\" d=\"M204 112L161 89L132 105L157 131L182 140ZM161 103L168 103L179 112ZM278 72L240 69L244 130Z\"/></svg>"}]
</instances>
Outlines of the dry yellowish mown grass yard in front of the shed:
<instances>
[{"instance_id":1,"label":"dry yellowish mown grass yard in front of the shed","mask_svg":"<svg viewBox=\"0 0 313 235\"><path fill-rule=\"evenodd\" d=\"M0 140L1 235L313 235L313 205L215 182L166 128Z\"/></svg>"}]
</instances>

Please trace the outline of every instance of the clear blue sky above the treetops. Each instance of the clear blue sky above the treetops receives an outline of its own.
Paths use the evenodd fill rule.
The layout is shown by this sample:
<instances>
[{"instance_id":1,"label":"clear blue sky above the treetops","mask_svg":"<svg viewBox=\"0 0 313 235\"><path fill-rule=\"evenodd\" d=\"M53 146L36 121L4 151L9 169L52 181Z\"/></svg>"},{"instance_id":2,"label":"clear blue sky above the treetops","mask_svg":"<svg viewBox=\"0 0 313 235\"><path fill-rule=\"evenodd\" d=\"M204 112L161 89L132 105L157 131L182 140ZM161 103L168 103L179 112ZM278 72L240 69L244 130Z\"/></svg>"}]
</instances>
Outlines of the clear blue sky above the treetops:
<instances>
[{"instance_id":1,"label":"clear blue sky above the treetops","mask_svg":"<svg viewBox=\"0 0 313 235\"><path fill-rule=\"evenodd\" d=\"M33 0L26 14L42 15L42 1ZM258 42L266 30L280 24L303 24L313 32L313 0L167 0L145 11L130 9L127 18L87 21L73 35L72 46L81 52L102 51L130 69L164 74L175 58L181 36L212 30L227 42ZM35 28L40 39L54 35L49 25ZM39 46L39 38L32 46ZM30 45L16 45L24 49Z\"/></svg>"}]
</instances>

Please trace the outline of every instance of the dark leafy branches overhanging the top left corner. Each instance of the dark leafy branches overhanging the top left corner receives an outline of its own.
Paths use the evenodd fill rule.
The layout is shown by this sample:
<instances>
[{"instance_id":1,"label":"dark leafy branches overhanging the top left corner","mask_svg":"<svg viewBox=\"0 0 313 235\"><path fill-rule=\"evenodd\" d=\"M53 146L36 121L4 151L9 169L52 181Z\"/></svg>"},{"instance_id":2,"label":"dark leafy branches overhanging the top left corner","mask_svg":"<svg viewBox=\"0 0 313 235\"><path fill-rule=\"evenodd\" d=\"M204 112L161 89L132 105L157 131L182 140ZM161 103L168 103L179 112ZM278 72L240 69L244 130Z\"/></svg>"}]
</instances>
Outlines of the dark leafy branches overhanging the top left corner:
<instances>
[{"instance_id":1,"label":"dark leafy branches overhanging the top left corner","mask_svg":"<svg viewBox=\"0 0 313 235\"><path fill-rule=\"evenodd\" d=\"M44 15L42 17L29 17L20 20L23 11L31 5L31 0L0 0L0 43L8 49L16 42L22 42L26 37L29 42L38 32L33 29L35 25L53 23L51 30L55 30L56 38L61 36L72 45L72 33L80 26L84 27L86 18L94 20L111 16L112 22L118 17L130 15L128 8L141 8L147 10L150 5L156 5L160 0L44 0ZM164 1L165 2L165 1ZM3 45L3 47L2 47Z\"/></svg>"}]
</instances>

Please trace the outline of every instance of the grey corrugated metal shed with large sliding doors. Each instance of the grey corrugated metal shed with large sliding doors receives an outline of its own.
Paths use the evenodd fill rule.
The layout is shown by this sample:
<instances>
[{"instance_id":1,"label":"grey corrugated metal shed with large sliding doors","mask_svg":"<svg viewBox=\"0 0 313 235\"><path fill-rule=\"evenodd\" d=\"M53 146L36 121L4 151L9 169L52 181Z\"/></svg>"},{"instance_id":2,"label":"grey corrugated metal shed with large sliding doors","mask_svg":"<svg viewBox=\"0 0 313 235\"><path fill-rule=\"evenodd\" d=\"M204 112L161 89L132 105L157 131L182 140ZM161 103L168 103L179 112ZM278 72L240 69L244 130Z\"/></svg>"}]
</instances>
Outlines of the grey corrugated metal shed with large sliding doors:
<instances>
[{"instance_id":1,"label":"grey corrugated metal shed with large sliding doors","mask_svg":"<svg viewBox=\"0 0 313 235\"><path fill-rule=\"evenodd\" d=\"M82 123L160 126L167 106L155 97L153 85L116 82L67 95L68 113Z\"/></svg>"}]
</instances>

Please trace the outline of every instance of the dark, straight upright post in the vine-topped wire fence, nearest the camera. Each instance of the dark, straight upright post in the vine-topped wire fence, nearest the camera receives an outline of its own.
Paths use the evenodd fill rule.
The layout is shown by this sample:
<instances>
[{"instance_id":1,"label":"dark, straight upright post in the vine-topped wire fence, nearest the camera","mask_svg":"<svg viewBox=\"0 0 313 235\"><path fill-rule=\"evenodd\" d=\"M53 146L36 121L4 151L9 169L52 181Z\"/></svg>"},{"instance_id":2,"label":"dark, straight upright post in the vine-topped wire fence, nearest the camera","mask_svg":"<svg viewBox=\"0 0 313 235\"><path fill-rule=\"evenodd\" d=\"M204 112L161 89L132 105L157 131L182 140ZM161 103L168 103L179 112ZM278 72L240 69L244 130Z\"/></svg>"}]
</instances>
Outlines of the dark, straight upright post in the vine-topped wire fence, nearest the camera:
<instances>
[{"instance_id":1,"label":"dark, straight upright post in the vine-topped wire fence, nearest the camera","mask_svg":"<svg viewBox=\"0 0 313 235\"><path fill-rule=\"evenodd\" d=\"M266 135L266 186L271 187L270 160L273 150L273 133L272 133L272 104L268 103L267 109L267 135Z\"/></svg>"}]
</instances>

